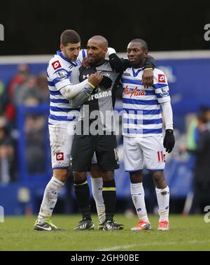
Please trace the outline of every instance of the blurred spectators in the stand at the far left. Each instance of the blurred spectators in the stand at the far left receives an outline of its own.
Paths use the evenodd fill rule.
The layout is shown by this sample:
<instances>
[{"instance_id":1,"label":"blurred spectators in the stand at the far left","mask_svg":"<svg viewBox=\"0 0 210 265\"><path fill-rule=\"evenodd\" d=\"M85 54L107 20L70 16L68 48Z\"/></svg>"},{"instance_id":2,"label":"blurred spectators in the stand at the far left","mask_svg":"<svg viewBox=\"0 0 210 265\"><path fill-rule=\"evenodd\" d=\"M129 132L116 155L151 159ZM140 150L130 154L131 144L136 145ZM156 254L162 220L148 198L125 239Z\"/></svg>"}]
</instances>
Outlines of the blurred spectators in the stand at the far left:
<instances>
[{"instance_id":1,"label":"blurred spectators in the stand at the far left","mask_svg":"<svg viewBox=\"0 0 210 265\"><path fill-rule=\"evenodd\" d=\"M0 182L18 180L18 120L19 106L49 105L46 74L34 76L27 64L18 65L17 73L8 84L0 80ZM45 117L36 113L25 115L25 158L29 173L44 171L43 150Z\"/></svg>"}]
</instances>

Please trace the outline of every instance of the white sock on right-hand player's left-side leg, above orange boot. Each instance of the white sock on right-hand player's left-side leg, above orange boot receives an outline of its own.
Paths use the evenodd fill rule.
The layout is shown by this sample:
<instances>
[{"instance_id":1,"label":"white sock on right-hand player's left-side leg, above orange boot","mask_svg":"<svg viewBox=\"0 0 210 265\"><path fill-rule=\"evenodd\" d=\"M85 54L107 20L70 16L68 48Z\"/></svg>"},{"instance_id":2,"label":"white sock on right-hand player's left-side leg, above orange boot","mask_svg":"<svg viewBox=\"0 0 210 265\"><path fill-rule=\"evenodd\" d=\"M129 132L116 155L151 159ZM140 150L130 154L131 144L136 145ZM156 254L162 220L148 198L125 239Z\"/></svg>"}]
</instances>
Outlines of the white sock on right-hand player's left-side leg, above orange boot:
<instances>
[{"instance_id":1,"label":"white sock on right-hand player's left-side leg, above orange boot","mask_svg":"<svg viewBox=\"0 0 210 265\"><path fill-rule=\"evenodd\" d=\"M149 222L144 201L144 187L142 182L130 183L130 192L139 220Z\"/></svg>"}]
</instances>

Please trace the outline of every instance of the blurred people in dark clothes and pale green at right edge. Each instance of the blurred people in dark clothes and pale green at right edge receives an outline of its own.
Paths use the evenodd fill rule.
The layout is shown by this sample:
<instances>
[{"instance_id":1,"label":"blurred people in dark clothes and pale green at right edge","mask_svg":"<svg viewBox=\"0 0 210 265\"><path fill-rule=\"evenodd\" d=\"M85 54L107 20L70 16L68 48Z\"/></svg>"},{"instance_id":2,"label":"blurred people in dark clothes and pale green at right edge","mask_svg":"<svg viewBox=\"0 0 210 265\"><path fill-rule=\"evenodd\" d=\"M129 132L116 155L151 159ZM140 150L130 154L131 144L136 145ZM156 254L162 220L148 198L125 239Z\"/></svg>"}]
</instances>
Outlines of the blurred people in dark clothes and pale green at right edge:
<instances>
[{"instance_id":1,"label":"blurred people in dark clothes and pale green at right edge","mask_svg":"<svg viewBox=\"0 0 210 265\"><path fill-rule=\"evenodd\" d=\"M202 106L197 115L188 116L186 142L180 152L195 158L193 196L188 213L202 213L210 204L210 108Z\"/></svg>"}]
</instances>

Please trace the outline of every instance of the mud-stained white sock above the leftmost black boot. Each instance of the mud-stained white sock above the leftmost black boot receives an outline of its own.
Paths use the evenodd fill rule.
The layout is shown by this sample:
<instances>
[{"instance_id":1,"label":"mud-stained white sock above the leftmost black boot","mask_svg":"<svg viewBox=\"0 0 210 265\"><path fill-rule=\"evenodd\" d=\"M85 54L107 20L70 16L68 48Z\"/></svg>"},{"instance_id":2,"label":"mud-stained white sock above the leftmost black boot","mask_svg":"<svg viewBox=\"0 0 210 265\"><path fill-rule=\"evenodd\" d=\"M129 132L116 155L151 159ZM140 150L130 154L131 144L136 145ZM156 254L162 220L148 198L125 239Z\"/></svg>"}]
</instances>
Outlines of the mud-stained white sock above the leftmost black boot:
<instances>
[{"instance_id":1,"label":"mud-stained white sock above the leftmost black boot","mask_svg":"<svg viewBox=\"0 0 210 265\"><path fill-rule=\"evenodd\" d=\"M45 187L45 192L43 195L43 200L38 213L38 222L45 222L51 215L57 203L57 196L60 190L64 186L64 182L57 180L57 178L52 177Z\"/></svg>"}]
</instances>

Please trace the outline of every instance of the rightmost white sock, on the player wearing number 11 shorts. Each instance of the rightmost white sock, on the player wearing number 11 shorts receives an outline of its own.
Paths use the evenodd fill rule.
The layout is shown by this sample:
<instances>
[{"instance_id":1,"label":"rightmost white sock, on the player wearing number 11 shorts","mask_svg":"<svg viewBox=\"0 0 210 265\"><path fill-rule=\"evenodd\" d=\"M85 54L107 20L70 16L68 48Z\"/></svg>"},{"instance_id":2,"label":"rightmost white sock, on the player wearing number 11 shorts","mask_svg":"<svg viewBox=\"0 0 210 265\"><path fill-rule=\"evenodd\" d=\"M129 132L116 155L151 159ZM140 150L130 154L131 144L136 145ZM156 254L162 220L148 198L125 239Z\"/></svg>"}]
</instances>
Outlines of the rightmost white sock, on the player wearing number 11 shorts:
<instances>
[{"instance_id":1,"label":"rightmost white sock, on the player wearing number 11 shorts","mask_svg":"<svg viewBox=\"0 0 210 265\"><path fill-rule=\"evenodd\" d=\"M161 221L169 221L169 187L155 189L158 199L158 213Z\"/></svg>"}]
</instances>

